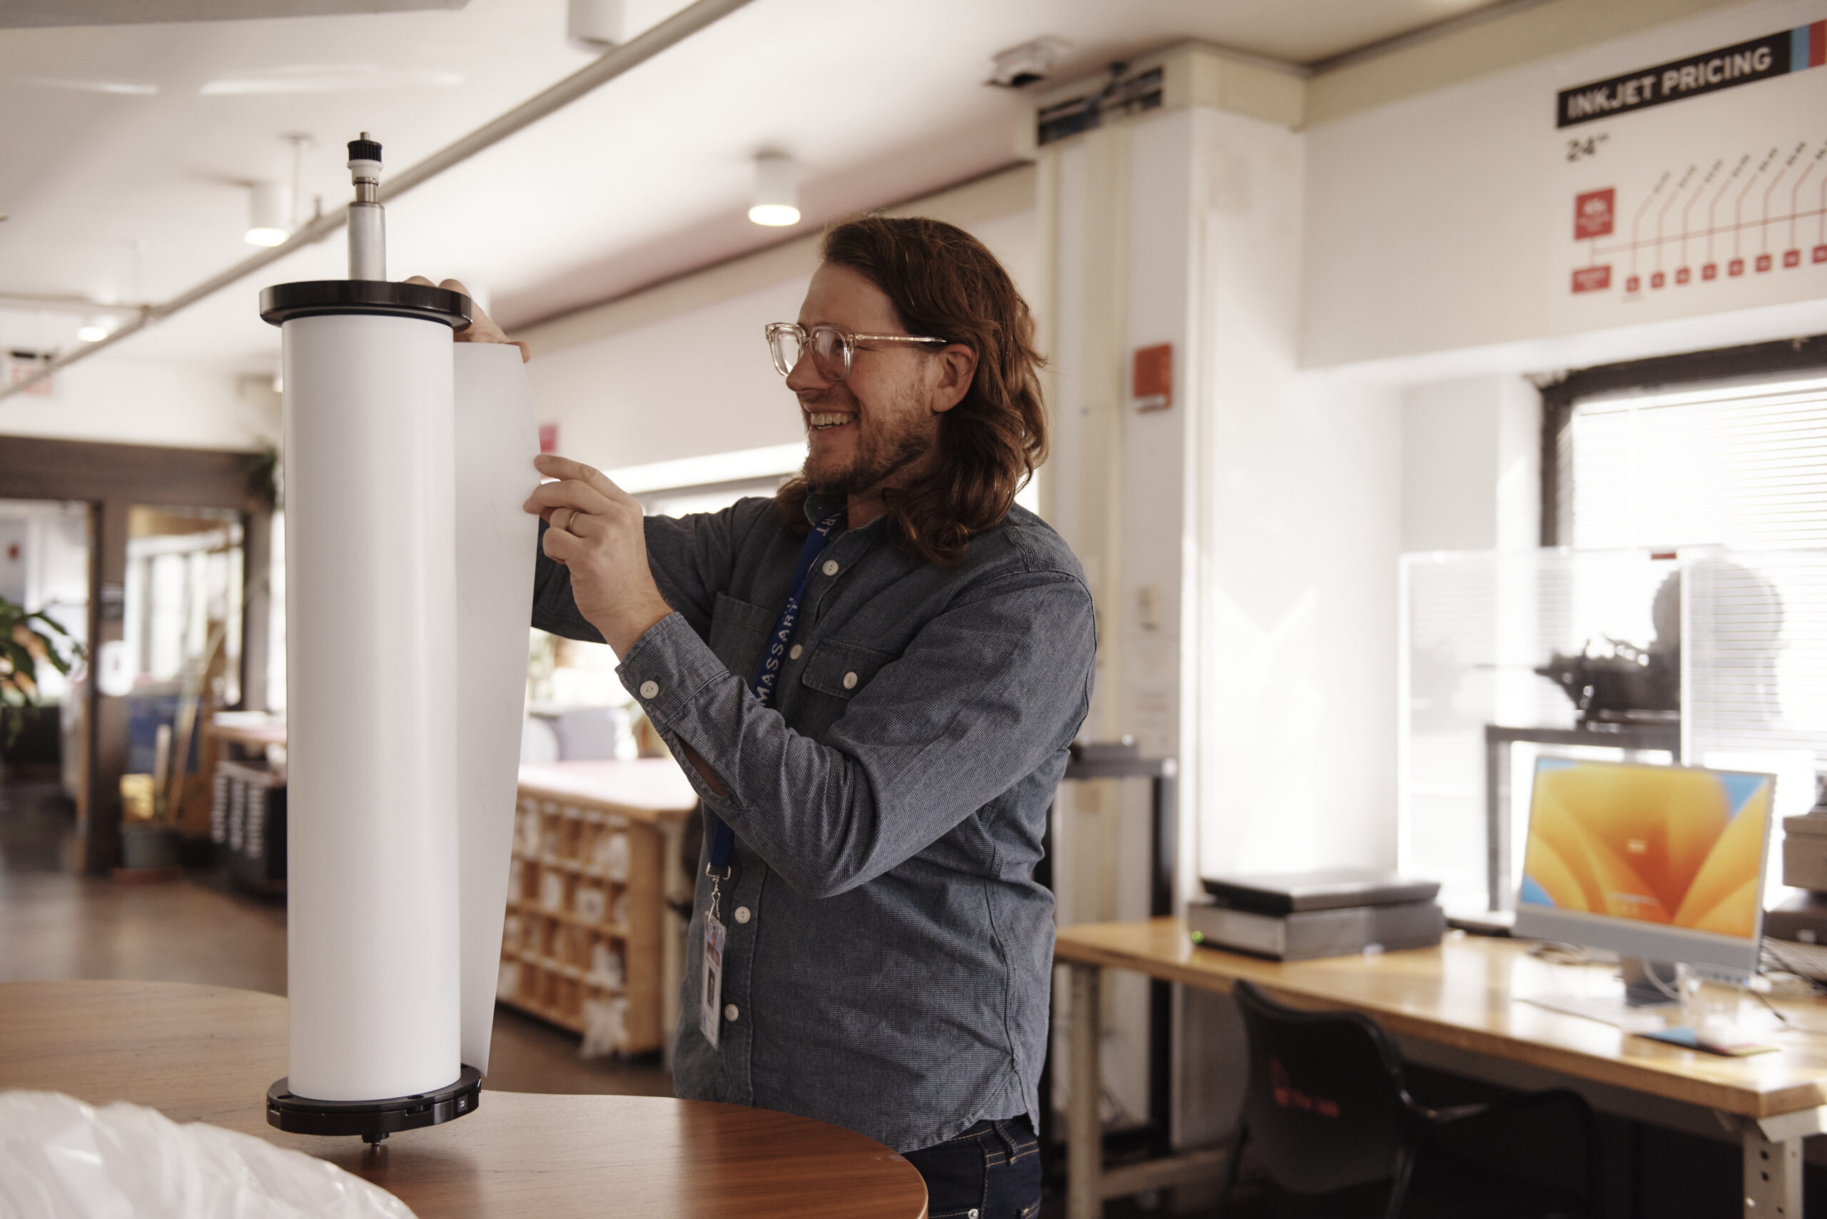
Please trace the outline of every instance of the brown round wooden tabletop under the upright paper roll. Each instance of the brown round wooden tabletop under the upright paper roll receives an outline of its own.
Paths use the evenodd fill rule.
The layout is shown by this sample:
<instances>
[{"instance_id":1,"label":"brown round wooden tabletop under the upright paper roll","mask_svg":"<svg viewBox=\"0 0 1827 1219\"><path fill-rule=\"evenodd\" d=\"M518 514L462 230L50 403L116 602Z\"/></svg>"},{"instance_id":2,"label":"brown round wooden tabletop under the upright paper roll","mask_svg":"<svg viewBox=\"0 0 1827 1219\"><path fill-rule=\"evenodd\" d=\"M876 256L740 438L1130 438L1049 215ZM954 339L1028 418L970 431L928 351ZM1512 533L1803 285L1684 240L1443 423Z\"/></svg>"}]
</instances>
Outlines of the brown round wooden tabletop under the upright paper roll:
<instances>
[{"instance_id":1,"label":"brown round wooden tabletop under the upright paper roll","mask_svg":"<svg viewBox=\"0 0 1827 1219\"><path fill-rule=\"evenodd\" d=\"M864 1135L787 1113L654 1097L482 1091L475 1113L358 1139L267 1126L285 1000L175 981L0 983L0 1089L128 1100L309 1151L442 1215L899 1215L926 1186Z\"/></svg>"}]
</instances>

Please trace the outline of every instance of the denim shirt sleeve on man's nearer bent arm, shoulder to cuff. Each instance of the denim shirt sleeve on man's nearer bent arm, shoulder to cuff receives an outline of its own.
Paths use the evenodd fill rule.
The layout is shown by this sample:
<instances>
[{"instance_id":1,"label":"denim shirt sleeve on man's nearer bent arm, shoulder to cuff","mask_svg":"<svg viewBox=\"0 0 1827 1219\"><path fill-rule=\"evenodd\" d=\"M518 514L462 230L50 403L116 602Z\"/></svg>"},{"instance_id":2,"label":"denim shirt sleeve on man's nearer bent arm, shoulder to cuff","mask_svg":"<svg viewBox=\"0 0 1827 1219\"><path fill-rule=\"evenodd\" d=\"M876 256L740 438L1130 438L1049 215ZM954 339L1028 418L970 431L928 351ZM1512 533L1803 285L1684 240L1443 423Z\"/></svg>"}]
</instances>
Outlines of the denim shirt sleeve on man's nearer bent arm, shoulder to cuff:
<instances>
[{"instance_id":1,"label":"denim shirt sleeve on man's nearer bent arm, shoulder to cuff","mask_svg":"<svg viewBox=\"0 0 1827 1219\"><path fill-rule=\"evenodd\" d=\"M623 685L705 804L808 897L882 875L1061 751L1091 700L1091 594L1056 570L961 590L884 663L824 740L755 700L672 614L623 658Z\"/></svg>"}]
</instances>

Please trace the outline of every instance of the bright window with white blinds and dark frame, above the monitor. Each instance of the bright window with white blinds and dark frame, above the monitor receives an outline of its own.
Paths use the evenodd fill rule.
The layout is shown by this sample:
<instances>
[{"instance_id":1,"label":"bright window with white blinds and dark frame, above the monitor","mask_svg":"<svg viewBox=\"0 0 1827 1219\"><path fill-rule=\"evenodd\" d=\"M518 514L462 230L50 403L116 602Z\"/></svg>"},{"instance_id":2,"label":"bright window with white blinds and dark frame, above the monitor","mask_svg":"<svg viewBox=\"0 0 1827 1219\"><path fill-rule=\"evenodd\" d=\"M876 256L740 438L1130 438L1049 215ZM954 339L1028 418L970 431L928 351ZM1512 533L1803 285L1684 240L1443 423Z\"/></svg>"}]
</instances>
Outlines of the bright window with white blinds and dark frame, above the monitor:
<instances>
[{"instance_id":1,"label":"bright window with white blinds and dark frame, above the monitor","mask_svg":"<svg viewBox=\"0 0 1827 1219\"><path fill-rule=\"evenodd\" d=\"M1827 373L1575 398L1555 459L1564 545L1679 550L1686 762L1774 771L1778 815L1807 811L1827 769Z\"/></svg>"}]
</instances>

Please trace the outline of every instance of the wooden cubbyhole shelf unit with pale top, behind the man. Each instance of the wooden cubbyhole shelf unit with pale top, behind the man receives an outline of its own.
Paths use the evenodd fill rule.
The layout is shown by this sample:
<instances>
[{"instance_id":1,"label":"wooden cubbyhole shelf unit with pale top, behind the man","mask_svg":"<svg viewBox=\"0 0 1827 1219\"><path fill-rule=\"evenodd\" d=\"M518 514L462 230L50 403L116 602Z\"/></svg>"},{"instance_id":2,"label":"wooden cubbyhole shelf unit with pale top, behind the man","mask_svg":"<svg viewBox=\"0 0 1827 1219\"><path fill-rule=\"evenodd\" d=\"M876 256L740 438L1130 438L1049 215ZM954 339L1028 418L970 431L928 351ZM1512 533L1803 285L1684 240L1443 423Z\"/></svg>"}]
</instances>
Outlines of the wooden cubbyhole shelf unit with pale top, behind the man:
<instances>
[{"instance_id":1,"label":"wooden cubbyhole shelf unit with pale top, behind the man","mask_svg":"<svg viewBox=\"0 0 1827 1219\"><path fill-rule=\"evenodd\" d=\"M685 976L685 921L674 905L691 906L694 879L680 866L680 839L698 793L671 758L579 760L523 766L517 804L513 866L521 892L515 896L510 883L508 914L517 916L523 939L506 938L502 959L515 961L519 985L508 991L502 983L501 1000L579 1033L586 1027L586 1000L621 1000L627 1014L618 1049L663 1049L671 1062ZM543 826L537 833L550 837L554 852L528 850L519 833L526 819ZM628 868L619 881L590 859L601 833L627 839ZM539 899L537 877L546 870L561 874L568 894L561 908ZM572 908L579 885L607 890L601 917ZM625 923L614 917L621 896ZM592 976L594 941L621 952L619 985Z\"/></svg>"}]
</instances>

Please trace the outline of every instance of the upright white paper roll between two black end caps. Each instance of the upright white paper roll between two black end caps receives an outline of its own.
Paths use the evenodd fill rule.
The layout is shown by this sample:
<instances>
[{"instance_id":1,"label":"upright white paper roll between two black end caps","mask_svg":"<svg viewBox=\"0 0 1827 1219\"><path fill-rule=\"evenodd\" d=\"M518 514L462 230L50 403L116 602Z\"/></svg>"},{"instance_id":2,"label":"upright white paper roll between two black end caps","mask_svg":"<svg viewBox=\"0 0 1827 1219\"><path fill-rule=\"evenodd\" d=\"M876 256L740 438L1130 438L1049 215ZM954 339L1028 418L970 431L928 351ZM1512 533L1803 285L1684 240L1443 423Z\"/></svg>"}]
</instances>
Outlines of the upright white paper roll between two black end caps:
<instances>
[{"instance_id":1,"label":"upright white paper roll between two black end caps","mask_svg":"<svg viewBox=\"0 0 1827 1219\"><path fill-rule=\"evenodd\" d=\"M460 1071L451 331L283 340L289 1087L406 1097Z\"/></svg>"}]
</instances>

